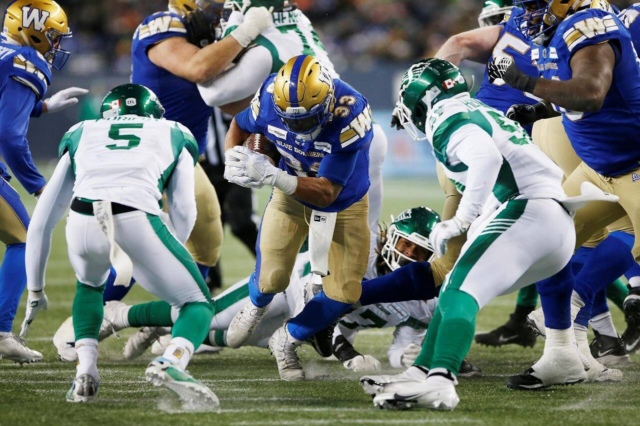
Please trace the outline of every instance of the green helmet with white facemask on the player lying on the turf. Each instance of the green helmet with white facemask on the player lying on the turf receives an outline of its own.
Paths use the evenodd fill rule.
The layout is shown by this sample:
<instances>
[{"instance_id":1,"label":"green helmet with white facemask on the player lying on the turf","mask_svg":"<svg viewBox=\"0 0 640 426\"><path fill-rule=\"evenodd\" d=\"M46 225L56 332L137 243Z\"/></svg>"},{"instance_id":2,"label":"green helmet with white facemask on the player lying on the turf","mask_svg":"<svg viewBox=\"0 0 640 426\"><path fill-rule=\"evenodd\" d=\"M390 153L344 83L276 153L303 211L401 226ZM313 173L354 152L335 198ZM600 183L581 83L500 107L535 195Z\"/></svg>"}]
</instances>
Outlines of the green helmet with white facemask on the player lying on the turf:
<instances>
[{"instance_id":1,"label":"green helmet with white facemask on the player lying on the turf","mask_svg":"<svg viewBox=\"0 0 640 426\"><path fill-rule=\"evenodd\" d=\"M395 271L403 265L415 262L415 259L403 255L396 249L400 237L433 253L433 248L429 244L429 234L438 222L440 222L440 215L428 207L422 206L404 210L397 217L391 216L391 225L387 230L387 241L382 246L380 253L389 269Z\"/></svg>"}]
</instances>

